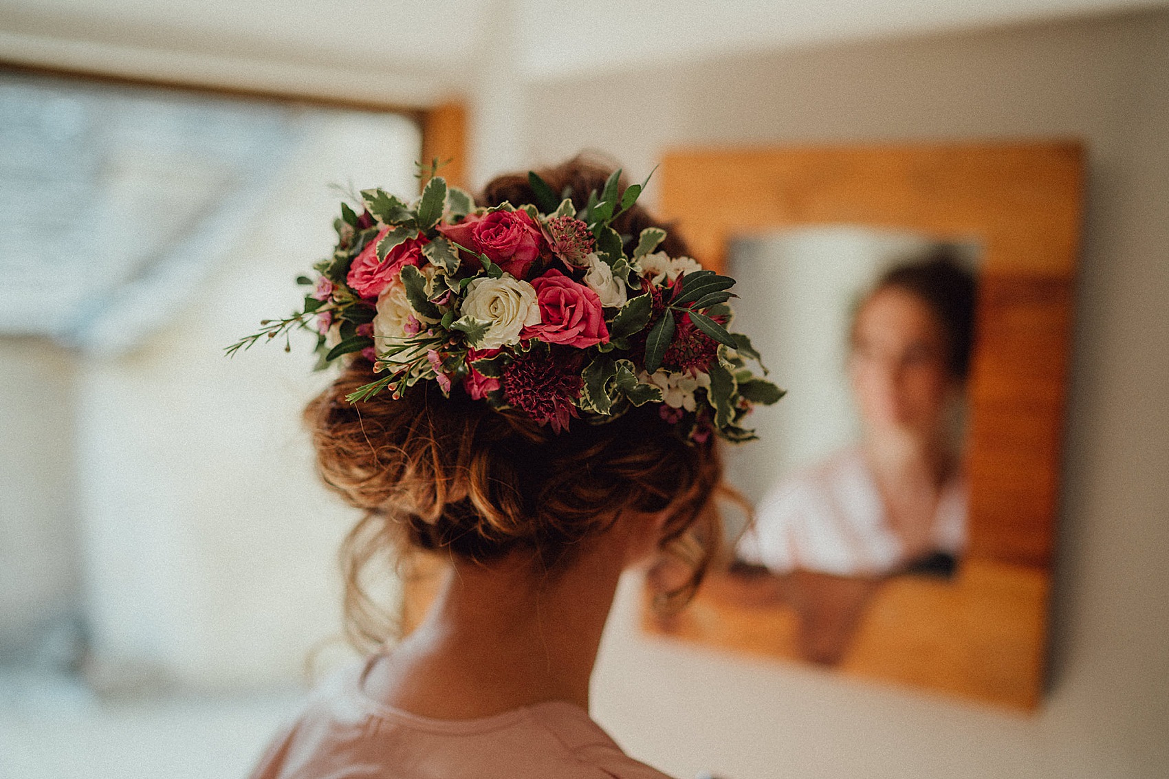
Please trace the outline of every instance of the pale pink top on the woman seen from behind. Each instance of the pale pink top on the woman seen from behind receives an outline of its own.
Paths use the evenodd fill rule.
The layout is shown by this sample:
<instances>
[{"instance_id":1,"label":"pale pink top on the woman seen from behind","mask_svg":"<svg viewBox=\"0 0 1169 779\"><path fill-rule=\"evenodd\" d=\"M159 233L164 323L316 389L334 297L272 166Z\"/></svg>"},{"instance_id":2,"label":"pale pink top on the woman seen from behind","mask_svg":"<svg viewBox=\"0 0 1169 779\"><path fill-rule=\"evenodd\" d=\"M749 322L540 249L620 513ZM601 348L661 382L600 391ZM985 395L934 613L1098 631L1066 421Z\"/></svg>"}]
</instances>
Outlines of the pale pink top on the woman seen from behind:
<instances>
[{"instance_id":1,"label":"pale pink top on the woman seen from behind","mask_svg":"<svg viewBox=\"0 0 1169 779\"><path fill-rule=\"evenodd\" d=\"M380 704L364 691L376 659L317 688L251 779L670 779L622 752L566 701L479 719L431 719Z\"/></svg>"}]
</instances>

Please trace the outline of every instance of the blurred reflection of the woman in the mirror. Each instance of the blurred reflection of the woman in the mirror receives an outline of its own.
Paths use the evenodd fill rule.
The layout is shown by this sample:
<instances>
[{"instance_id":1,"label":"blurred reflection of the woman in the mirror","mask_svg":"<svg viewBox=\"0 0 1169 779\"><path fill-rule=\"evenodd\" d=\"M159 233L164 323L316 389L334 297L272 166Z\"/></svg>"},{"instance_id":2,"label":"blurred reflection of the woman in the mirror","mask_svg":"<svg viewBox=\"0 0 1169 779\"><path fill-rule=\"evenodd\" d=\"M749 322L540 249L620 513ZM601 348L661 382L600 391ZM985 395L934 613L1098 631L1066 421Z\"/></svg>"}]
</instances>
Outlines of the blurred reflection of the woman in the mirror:
<instances>
[{"instance_id":1,"label":"blurred reflection of the woman in the mirror","mask_svg":"<svg viewBox=\"0 0 1169 779\"><path fill-rule=\"evenodd\" d=\"M975 280L935 251L897 266L860 301L849 377L860 412L856 446L781 481L739 544L756 582L801 614L811 660L841 660L881 578L949 573L966 540L956 435L969 368Z\"/></svg>"}]
</instances>

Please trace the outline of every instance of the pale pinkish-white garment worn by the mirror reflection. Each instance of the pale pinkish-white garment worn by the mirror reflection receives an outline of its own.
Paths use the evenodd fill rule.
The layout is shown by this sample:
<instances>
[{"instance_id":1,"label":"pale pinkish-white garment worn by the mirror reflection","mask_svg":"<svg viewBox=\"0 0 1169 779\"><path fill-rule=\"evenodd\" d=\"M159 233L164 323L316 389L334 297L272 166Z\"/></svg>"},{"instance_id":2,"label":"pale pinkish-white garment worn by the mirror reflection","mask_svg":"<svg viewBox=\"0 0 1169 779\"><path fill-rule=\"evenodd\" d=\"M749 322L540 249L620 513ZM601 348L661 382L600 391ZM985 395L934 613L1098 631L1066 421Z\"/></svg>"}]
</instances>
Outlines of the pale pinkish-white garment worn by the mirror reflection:
<instances>
[{"instance_id":1,"label":"pale pinkish-white garment worn by the mirror reflection","mask_svg":"<svg viewBox=\"0 0 1169 779\"><path fill-rule=\"evenodd\" d=\"M967 484L962 474L942 485L933 550L966 547ZM885 521L885 506L859 448L838 451L773 487L756 506L755 526L739 557L776 573L794 568L862 575L887 573L911 560Z\"/></svg>"}]
</instances>

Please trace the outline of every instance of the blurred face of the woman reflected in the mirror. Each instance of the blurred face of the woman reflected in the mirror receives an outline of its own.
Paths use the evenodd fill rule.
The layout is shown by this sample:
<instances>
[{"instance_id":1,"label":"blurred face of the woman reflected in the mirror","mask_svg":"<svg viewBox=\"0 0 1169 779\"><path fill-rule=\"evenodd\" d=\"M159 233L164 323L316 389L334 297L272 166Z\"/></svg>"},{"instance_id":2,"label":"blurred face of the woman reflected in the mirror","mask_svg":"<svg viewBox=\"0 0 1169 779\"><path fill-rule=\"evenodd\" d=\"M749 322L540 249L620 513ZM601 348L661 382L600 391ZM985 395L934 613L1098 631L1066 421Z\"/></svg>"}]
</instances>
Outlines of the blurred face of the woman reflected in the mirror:
<instances>
[{"instance_id":1,"label":"blurred face of the woman reflected in the mirror","mask_svg":"<svg viewBox=\"0 0 1169 779\"><path fill-rule=\"evenodd\" d=\"M865 301L853 324L849 358L865 427L936 434L959 391L946 358L946 332L916 295L890 287Z\"/></svg>"}]
</instances>

